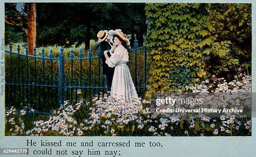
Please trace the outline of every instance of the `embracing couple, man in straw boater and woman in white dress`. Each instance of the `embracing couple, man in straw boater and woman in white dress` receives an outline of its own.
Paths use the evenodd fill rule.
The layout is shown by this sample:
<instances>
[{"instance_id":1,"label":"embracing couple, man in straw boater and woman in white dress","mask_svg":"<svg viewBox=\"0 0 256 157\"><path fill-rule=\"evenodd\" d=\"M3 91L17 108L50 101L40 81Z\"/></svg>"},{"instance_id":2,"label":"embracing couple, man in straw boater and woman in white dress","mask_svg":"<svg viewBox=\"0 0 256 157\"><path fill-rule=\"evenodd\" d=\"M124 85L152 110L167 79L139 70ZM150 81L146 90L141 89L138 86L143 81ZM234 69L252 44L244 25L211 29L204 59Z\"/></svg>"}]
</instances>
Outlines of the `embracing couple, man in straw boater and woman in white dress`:
<instances>
[{"instance_id":1,"label":"embracing couple, man in straw boater and woman in white dress","mask_svg":"<svg viewBox=\"0 0 256 157\"><path fill-rule=\"evenodd\" d=\"M102 59L102 70L107 78L110 97L125 100L138 99L127 66L128 50L131 49L127 35L121 30L100 30L97 37L100 47L98 56Z\"/></svg>"}]
</instances>

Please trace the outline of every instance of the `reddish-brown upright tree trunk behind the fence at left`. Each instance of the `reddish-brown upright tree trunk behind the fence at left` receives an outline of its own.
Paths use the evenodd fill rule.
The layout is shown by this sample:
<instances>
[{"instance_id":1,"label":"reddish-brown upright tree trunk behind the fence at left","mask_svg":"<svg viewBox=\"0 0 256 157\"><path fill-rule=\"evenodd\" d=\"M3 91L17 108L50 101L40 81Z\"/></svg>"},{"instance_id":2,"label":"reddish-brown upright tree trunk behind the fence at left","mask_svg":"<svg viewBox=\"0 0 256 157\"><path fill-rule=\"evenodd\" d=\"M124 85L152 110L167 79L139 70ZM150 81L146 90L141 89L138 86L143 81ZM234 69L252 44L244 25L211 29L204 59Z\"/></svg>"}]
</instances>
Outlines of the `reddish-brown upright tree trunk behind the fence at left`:
<instances>
[{"instance_id":1,"label":"reddish-brown upright tree trunk behind the fence at left","mask_svg":"<svg viewBox=\"0 0 256 157\"><path fill-rule=\"evenodd\" d=\"M28 53L36 47L36 3L28 3Z\"/></svg>"}]
</instances>

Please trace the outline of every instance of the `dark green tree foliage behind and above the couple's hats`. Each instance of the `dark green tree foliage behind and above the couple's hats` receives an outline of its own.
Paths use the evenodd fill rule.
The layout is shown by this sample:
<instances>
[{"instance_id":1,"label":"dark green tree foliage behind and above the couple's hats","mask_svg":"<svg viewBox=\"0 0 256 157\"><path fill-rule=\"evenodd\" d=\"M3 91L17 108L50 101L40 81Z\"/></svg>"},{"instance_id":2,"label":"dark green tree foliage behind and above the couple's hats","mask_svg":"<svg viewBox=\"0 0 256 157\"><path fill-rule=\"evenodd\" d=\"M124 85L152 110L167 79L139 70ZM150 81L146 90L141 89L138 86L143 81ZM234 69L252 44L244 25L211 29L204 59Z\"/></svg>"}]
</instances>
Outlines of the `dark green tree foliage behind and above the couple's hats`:
<instances>
[{"instance_id":1,"label":"dark green tree foliage behind and above the couple's hats","mask_svg":"<svg viewBox=\"0 0 256 157\"><path fill-rule=\"evenodd\" d=\"M37 3L37 45L79 46L83 42L87 44L87 38L96 40L99 30L117 28L122 29L126 34L138 33L142 36L146 28L142 9L144 5L144 3Z\"/></svg>"}]
</instances>

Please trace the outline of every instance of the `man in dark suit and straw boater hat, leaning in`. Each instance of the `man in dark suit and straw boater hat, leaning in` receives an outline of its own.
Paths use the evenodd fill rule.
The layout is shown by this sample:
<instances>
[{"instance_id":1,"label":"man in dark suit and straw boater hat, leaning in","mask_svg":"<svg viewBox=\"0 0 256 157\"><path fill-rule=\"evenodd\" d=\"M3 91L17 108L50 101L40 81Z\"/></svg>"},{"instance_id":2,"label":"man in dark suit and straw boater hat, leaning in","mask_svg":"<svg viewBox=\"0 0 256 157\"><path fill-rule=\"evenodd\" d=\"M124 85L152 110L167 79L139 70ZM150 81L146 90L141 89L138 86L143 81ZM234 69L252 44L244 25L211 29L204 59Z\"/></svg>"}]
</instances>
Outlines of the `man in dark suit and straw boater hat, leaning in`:
<instances>
[{"instance_id":1,"label":"man in dark suit and straw boater hat, leaning in","mask_svg":"<svg viewBox=\"0 0 256 157\"><path fill-rule=\"evenodd\" d=\"M116 46L114 46L113 40L110 38L108 34L108 30L100 30L97 34L97 37L99 38L99 43L97 47L100 48L100 51L98 51L97 55L102 60L102 73L103 75L106 75L107 87L108 87L108 91L110 91L112 86L115 67L110 68L108 64L105 63L106 58L104 56L104 51L108 51L108 56L110 57L111 56L110 52L113 53Z\"/></svg>"}]
</instances>

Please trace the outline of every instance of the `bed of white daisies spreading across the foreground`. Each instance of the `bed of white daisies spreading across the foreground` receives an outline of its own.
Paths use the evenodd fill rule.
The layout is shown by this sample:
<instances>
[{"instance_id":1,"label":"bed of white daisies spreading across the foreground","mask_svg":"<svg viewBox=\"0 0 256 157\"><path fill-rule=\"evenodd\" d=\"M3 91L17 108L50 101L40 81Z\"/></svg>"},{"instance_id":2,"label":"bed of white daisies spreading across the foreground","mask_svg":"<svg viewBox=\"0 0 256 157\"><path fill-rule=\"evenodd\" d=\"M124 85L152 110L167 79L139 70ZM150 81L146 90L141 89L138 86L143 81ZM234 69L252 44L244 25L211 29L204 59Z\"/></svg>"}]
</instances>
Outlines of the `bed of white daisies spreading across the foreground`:
<instances>
[{"instance_id":1,"label":"bed of white daisies spreading across the foreground","mask_svg":"<svg viewBox=\"0 0 256 157\"><path fill-rule=\"evenodd\" d=\"M249 92L251 77L227 83L213 79L214 90L207 80L197 84L194 92ZM212 118L207 116L155 118L150 101L108 99L106 95L92 102L69 101L52 115L27 114L14 107L6 109L7 136L251 136L251 118L235 115Z\"/></svg>"}]
</instances>

